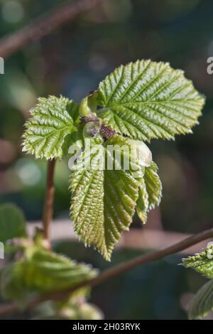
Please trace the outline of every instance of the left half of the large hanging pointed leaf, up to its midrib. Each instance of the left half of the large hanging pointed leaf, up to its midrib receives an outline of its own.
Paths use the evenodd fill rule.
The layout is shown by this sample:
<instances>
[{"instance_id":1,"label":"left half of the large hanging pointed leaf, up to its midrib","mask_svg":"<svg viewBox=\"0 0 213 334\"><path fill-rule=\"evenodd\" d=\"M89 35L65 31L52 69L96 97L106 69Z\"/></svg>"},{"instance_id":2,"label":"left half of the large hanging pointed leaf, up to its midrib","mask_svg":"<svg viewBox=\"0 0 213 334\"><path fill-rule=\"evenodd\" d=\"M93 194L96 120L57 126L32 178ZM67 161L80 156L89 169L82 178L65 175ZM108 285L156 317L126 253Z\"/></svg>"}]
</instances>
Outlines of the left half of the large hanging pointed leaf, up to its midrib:
<instances>
[{"instance_id":1,"label":"left half of the large hanging pointed leaf, up to its midrib","mask_svg":"<svg viewBox=\"0 0 213 334\"><path fill-rule=\"evenodd\" d=\"M70 215L75 232L85 245L93 244L107 254L104 239L104 171L77 168L70 178L72 193Z\"/></svg>"}]
</instances>

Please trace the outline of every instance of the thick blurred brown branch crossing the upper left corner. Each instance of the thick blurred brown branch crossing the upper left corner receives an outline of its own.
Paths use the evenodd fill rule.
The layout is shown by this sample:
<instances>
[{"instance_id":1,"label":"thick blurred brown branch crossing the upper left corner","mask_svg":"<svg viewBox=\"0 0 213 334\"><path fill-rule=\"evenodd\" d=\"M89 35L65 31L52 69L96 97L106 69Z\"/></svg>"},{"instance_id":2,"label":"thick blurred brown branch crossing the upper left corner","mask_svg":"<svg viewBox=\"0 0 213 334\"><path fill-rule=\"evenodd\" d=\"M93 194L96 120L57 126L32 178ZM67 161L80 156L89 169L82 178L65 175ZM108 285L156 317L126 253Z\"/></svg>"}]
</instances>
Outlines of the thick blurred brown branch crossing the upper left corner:
<instances>
[{"instance_id":1,"label":"thick blurred brown branch crossing the upper left corner","mask_svg":"<svg viewBox=\"0 0 213 334\"><path fill-rule=\"evenodd\" d=\"M9 55L23 48L27 43L48 35L48 33L54 31L56 28L94 8L100 2L101 0L68 1L54 11L35 18L28 26L1 38L0 56L3 58L9 57Z\"/></svg>"}]
</instances>

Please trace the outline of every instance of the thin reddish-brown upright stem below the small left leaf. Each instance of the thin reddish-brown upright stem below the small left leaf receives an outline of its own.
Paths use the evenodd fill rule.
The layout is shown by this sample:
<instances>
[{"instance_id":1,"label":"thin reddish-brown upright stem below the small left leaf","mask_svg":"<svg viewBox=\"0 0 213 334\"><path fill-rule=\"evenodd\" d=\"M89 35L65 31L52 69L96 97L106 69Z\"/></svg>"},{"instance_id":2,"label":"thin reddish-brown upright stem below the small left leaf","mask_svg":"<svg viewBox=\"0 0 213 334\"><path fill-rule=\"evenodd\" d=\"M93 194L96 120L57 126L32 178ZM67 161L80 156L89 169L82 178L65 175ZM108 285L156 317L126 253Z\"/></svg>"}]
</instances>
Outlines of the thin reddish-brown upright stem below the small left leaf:
<instances>
[{"instance_id":1,"label":"thin reddish-brown upright stem below the small left leaf","mask_svg":"<svg viewBox=\"0 0 213 334\"><path fill-rule=\"evenodd\" d=\"M55 170L55 160L48 161L48 174L46 183L45 204L43 208L43 229L45 239L50 243L50 224L53 219L53 202L54 202L54 183L53 176Z\"/></svg>"}]
</instances>

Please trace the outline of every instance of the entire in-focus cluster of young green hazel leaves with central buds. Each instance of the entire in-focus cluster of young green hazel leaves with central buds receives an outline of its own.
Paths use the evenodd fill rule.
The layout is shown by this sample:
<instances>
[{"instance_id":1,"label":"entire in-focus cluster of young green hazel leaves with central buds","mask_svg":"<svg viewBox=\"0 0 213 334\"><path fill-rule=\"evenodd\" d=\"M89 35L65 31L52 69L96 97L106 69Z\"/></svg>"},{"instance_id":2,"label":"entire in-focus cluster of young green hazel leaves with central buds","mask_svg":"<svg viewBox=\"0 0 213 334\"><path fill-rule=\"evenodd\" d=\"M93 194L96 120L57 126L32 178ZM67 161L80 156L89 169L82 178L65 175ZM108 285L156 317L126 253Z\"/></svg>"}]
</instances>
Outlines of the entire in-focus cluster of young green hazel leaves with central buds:
<instances>
[{"instance_id":1,"label":"entire in-focus cluster of young green hazel leaves with central buds","mask_svg":"<svg viewBox=\"0 0 213 334\"><path fill-rule=\"evenodd\" d=\"M71 217L84 243L109 260L135 209L146 222L148 210L160 203L158 168L143 141L191 132L203 105L204 97L181 70L138 60L117 68L80 106L64 97L39 99L26 124L23 150L36 158L70 155L69 166L79 157L89 162L89 167L74 163ZM109 146L114 146L113 153ZM132 146L137 149L129 153ZM107 166L101 163L99 168L103 160ZM131 161L129 167L126 161Z\"/></svg>"}]
</instances>

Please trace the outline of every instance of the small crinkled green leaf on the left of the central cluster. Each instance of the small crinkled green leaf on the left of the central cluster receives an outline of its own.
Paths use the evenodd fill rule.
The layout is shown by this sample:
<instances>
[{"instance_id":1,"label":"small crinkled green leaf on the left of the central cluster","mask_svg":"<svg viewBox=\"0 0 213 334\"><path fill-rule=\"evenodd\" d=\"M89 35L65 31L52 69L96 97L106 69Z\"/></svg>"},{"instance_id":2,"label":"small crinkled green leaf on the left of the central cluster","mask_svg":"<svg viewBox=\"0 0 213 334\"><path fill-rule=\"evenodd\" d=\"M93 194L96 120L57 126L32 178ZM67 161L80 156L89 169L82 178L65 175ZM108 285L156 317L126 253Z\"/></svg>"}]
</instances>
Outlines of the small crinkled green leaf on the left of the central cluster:
<instances>
[{"instance_id":1,"label":"small crinkled green leaf on the left of the central cluster","mask_svg":"<svg viewBox=\"0 0 213 334\"><path fill-rule=\"evenodd\" d=\"M62 158L67 135L77 131L79 106L65 97L40 97L23 134L23 151L35 158Z\"/></svg>"}]
</instances>

